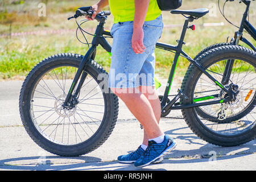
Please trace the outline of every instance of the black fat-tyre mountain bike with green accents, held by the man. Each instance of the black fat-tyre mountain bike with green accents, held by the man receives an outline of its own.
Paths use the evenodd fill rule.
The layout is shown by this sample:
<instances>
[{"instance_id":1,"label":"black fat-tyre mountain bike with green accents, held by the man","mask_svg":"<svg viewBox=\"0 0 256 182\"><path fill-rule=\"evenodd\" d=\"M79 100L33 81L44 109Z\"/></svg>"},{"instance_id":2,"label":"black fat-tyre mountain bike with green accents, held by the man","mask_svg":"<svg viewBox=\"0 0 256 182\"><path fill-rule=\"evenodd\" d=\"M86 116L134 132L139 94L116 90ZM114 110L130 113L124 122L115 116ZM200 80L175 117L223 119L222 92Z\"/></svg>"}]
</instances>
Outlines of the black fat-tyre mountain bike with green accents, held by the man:
<instances>
[{"instance_id":1,"label":"black fat-tyre mountain bike with green accents, held by the man","mask_svg":"<svg viewBox=\"0 0 256 182\"><path fill-rule=\"evenodd\" d=\"M90 16L91 9L81 7L71 18ZM156 43L156 48L175 52L166 89L160 98L162 114L181 109L185 122L197 136L216 145L236 146L255 138L254 113L246 112L245 117L237 121L215 122L201 117L196 109L212 106L209 113L217 113L220 119L229 115L235 118L246 110L247 101L250 103L254 97L247 95L246 102L242 104L238 104L238 101L244 93L251 90L255 93L256 53L248 48L228 45L211 49L197 59L189 57L182 49L186 31L194 28L193 24L189 26L189 22L208 12L208 9L171 11L172 14L185 16L177 46ZM118 117L118 98L108 88L108 73L94 61L98 45L111 52L105 38L112 35L104 30L109 14L108 11L97 14L99 23L95 34L92 34L92 46L85 56L75 53L50 56L32 69L22 85L19 108L23 125L39 146L53 154L86 154L101 146L114 129ZM181 89L170 99L180 56L191 64ZM232 73L230 75L225 73L228 60L235 60L233 67L228 69ZM222 84L222 78L228 79L229 83ZM238 108L234 108L234 105Z\"/></svg>"}]
</instances>

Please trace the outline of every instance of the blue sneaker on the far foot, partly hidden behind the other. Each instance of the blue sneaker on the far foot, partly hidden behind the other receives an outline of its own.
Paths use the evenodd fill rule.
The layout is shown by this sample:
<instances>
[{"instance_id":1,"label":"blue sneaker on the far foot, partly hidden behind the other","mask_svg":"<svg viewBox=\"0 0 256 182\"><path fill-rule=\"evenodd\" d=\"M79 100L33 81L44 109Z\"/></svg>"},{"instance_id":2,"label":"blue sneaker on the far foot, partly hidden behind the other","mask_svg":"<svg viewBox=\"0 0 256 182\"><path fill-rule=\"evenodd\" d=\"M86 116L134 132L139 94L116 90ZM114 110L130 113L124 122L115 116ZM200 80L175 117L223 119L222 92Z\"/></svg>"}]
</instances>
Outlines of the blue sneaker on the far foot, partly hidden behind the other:
<instances>
[{"instance_id":1,"label":"blue sneaker on the far foot, partly hidden behind the other","mask_svg":"<svg viewBox=\"0 0 256 182\"><path fill-rule=\"evenodd\" d=\"M141 146L138 147L137 150L131 152L130 154L126 154L126 155L121 155L117 158L117 160L120 163L134 163L136 160L138 160L144 153L145 151L143 150L143 148ZM163 158L159 158L158 160L156 160L154 163L160 163L162 162Z\"/></svg>"}]
</instances>

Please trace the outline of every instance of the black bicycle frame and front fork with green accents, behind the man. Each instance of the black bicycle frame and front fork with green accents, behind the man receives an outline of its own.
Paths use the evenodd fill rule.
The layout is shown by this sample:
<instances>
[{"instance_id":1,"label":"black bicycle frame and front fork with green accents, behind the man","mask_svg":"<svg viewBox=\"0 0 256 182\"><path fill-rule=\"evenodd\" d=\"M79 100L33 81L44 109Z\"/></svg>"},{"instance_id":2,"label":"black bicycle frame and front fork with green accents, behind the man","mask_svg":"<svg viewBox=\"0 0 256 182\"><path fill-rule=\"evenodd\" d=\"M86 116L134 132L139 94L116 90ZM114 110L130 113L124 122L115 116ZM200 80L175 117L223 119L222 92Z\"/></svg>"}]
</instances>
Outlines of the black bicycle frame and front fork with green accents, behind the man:
<instances>
[{"instance_id":1,"label":"black bicycle frame and front fork with green accents, behind the man","mask_svg":"<svg viewBox=\"0 0 256 182\"><path fill-rule=\"evenodd\" d=\"M106 19L106 17L105 17ZM104 48L106 51L108 51L109 53L111 52L111 46L110 44L106 41L106 39L102 36L102 35L108 35L110 37L112 37L112 35L110 34L110 31L106 31L104 30L104 23L105 23L105 19L102 19L100 21L100 23L98 24L97 28L96 28L96 32L95 32L95 36L93 37L92 40L92 46L89 48L89 50L86 52L85 56L83 57L81 64L77 70L77 73L75 75L75 78L73 79L71 88L69 89L69 92L67 94L67 97L65 99L65 102L63 104L63 107L65 108L70 108L72 105L72 101L74 99L76 99L78 93L80 92L80 88L81 85L83 84L87 73L84 72L84 69L86 67L86 64L88 63L88 61L90 59L94 59L95 55L96 55L96 48L98 46L98 44L100 44L102 46L102 48ZM167 51L175 51L175 57L174 57L174 61L172 63L172 67L171 67L171 71L170 71L170 75L168 77L168 81L167 81L167 85L166 85L166 89L164 92L164 96L161 102L161 106L162 106L162 112L166 112L167 110L176 110L176 109L186 109L186 108L191 108L191 107L198 107L198 106L204 106L204 105L213 105L213 104L220 104L222 102L229 102L232 100L232 96L233 96L233 91L232 89L226 89L224 87L224 85L222 85L220 82L218 82L214 77L212 77L206 70L205 68L200 64L197 63L197 61L193 60L191 57L189 57L187 55L187 53L185 53L182 49L182 46L184 43L184 37L186 34L188 27L188 23L189 22L193 22L193 18L192 17L188 17L187 19L185 19L185 23L183 26L183 30L181 32L181 36L180 36L180 40L177 44L177 46L172 46L170 44L165 44L165 43L156 43L156 48L160 48L160 49L164 49ZM220 89L224 90L224 92L228 93L229 97L228 98L224 98L221 100L217 100L217 101L208 101L208 102L200 102L200 103L192 103L189 105L180 105L180 106L174 106L174 104L176 103L176 101L180 98L180 97L186 97L184 96L182 90L179 90L179 93L175 96L175 98L171 101L168 102L167 104L167 98L168 95L170 93L170 89L171 89L171 85L172 85L172 81L174 79L174 75L175 75L175 71L176 71L176 67L177 67L177 63L179 60L179 57L183 56L185 57L191 64L195 65L197 68L200 69L201 72L203 72L206 76L208 76L210 78L210 80L212 80L213 82L216 83L216 85L218 87L220 87ZM82 75L82 76L81 76ZM77 86L77 89L75 90L75 93L72 95L74 88L77 84L77 81L80 79L79 85ZM205 101L205 100L210 100L212 98L217 98L218 96L215 95L211 95L211 96L207 96L207 97L201 97L201 98L196 98L193 102L198 102L198 101Z\"/></svg>"}]
</instances>

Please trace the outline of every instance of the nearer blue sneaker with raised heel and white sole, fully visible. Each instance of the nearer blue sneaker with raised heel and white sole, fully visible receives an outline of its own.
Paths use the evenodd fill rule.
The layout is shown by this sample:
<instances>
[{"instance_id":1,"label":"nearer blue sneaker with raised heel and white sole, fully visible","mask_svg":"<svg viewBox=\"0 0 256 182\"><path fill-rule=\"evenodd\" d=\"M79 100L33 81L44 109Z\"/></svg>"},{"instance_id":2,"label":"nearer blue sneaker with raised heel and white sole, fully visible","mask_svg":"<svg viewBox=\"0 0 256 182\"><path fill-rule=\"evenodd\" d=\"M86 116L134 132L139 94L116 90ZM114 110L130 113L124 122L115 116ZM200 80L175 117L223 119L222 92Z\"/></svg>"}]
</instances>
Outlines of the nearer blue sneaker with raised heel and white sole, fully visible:
<instances>
[{"instance_id":1,"label":"nearer blue sneaker with raised heel and white sole, fully visible","mask_svg":"<svg viewBox=\"0 0 256 182\"><path fill-rule=\"evenodd\" d=\"M169 135L164 136L162 143L156 143L154 140L148 141L148 146L146 151L142 156L136 160L134 163L135 167L144 167L158 161L163 158L168 152L174 150L176 147L175 141L169 137Z\"/></svg>"}]
</instances>

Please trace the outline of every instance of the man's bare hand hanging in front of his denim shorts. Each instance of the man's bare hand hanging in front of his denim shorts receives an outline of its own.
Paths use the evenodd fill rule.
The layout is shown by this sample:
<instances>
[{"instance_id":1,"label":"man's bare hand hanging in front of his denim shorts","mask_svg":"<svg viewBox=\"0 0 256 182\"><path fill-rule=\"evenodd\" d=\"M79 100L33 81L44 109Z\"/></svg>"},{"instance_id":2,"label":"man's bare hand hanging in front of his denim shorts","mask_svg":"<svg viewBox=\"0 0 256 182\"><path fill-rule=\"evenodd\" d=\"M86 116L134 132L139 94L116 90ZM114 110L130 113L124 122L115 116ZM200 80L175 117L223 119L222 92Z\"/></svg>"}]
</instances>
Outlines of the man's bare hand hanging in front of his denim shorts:
<instances>
[{"instance_id":1,"label":"man's bare hand hanging in front of his denim shorts","mask_svg":"<svg viewBox=\"0 0 256 182\"><path fill-rule=\"evenodd\" d=\"M143 28L134 28L133 37L131 38L131 47L133 47L135 53L143 53L144 49L146 49L143 44L143 38Z\"/></svg>"}]
</instances>

